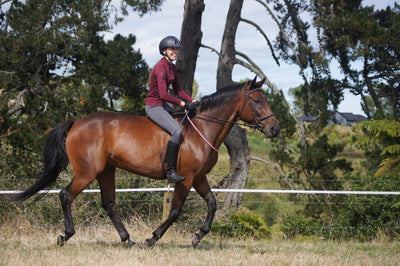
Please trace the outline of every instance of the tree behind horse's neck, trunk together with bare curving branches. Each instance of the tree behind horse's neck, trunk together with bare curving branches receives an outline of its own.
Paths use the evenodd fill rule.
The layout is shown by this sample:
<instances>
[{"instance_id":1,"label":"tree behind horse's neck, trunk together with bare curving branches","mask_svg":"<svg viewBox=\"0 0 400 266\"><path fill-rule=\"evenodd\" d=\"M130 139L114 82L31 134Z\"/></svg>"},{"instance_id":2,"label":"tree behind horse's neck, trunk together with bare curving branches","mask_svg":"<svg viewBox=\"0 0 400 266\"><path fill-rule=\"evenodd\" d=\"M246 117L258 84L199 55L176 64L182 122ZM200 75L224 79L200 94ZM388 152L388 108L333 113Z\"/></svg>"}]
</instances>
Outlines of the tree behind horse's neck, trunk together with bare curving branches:
<instances>
[{"instance_id":1,"label":"tree behind horse's neck, trunk together with bare curving branches","mask_svg":"<svg viewBox=\"0 0 400 266\"><path fill-rule=\"evenodd\" d=\"M268 6L262 1L257 1L267 11L270 12ZM263 71L255 64L251 58L249 58L245 53L237 51L235 49L235 39L236 31L240 22L248 23L254 26L264 37L267 45L269 46L273 58L276 63L279 64L277 57L275 56L273 47L268 39L267 34L254 22L241 17L241 9L243 6L242 0L231 0L226 22L224 34L221 41L220 52L217 52L212 47L202 44L202 47L211 49L216 52L219 56L218 69L217 69L217 90L225 86L234 84L232 79L232 70L235 65L241 65L254 73L256 73L260 78L266 78L266 84L268 87L274 91L274 93L280 94L284 99L282 92L280 92L273 84L268 80ZM278 23L279 24L279 23ZM240 57L240 58L239 58ZM242 60L243 58L244 60ZM286 100L285 100L286 102ZM287 106L287 105L286 105ZM287 109L285 109L287 110ZM288 114L288 112L286 112ZM227 136L224 144L228 148L231 169L228 176L226 176L222 182L224 187L229 188L244 188L247 183L249 163L250 163L250 150L247 144L246 132L244 129L234 126ZM226 196L225 204L227 207L234 206L237 207L241 203L243 194L242 193L230 193Z\"/></svg>"}]
</instances>

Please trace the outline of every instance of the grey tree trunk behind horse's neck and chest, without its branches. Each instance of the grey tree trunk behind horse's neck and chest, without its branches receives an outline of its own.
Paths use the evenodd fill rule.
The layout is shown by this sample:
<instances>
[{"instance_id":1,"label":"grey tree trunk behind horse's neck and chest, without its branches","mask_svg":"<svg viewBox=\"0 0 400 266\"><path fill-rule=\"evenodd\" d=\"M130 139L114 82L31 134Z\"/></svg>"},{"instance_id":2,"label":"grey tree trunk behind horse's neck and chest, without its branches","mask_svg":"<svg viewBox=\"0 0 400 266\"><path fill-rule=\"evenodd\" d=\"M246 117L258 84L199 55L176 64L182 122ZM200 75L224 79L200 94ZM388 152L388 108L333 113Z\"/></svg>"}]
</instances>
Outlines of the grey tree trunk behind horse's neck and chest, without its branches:
<instances>
[{"instance_id":1,"label":"grey tree trunk behind horse's neck and chest, without its branches","mask_svg":"<svg viewBox=\"0 0 400 266\"><path fill-rule=\"evenodd\" d=\"M231 0L221 43L221 57L218 61L217 90L234 84L232 70L236 63L235 39L240 22L243 0ZM223 180L222 187L243 189L247 183L250 168L250 149L247 143L246 131L234 126L224 141L230 156L230 172ZM225 207L238 207L243 193L227 193Z\"/></svg>"}]
</instances>

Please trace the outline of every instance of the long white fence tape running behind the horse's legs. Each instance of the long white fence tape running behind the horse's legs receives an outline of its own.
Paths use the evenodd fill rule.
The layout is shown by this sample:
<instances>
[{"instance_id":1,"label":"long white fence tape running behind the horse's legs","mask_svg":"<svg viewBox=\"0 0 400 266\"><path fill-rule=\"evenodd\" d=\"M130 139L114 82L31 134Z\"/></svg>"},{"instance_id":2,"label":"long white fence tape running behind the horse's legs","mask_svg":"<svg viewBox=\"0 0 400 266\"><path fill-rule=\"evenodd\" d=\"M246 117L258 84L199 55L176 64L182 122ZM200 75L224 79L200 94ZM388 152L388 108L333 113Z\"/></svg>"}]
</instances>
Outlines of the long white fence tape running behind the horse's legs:
<instances>
[{"instance_id":1,"label":"long white fence tape running behind the horse's legs","mask_svg":"<svg viewBox=\"0 0 400 266\"><path fill-rule=\"evenodd\" d=\"M171 192L174 188L121 188L116 192ZM195 191L193 188L190 191ZM337 194L337 195L400 195L400 191L335 191L335 190L279 190L279 189L211 189L217 193L270 193L270 194ZM17 194L19 190L3 190L0 195ZM60 189L41 190L38 193L59 193ZM100 189L85 189L83 193L99 193Z\"/></svg>"}]
</instances>

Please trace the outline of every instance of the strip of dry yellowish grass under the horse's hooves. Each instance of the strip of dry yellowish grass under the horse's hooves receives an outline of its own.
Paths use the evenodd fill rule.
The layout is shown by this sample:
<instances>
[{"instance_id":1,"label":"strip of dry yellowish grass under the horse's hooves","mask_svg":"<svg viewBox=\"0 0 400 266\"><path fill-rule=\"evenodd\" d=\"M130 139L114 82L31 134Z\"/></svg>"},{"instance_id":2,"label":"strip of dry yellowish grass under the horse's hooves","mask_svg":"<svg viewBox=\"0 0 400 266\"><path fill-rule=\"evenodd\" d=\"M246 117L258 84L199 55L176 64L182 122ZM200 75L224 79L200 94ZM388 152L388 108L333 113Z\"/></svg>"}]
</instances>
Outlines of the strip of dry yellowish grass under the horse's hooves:
<instances>
[{"instance_id":1,"label":"strip of dry yellowish grass under the horse's hooves","mask_svg":"<svg viewBox=\"0 0 400 266\"><path fill-rule=\"evenodd\" d=\"M155 226L132 221L133 240L143 243ZM64 247L62 231L23 221L0 227L0 265L399 265L400 244L331 241L238 240L209 234L193 249L190 233L173 227L152 249L127 248L111 226L77 226Z\"/></svg>"}]
</instances>

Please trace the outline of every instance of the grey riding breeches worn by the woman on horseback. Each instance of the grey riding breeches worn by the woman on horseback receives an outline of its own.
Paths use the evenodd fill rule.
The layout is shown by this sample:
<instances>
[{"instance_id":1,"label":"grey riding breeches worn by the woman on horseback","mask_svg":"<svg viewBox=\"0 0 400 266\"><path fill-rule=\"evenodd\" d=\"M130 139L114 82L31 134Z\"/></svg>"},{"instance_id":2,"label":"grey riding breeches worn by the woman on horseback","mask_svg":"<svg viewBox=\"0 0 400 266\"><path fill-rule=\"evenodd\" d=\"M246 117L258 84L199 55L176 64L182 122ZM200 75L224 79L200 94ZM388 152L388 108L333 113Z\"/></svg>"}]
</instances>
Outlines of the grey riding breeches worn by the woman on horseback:
<instances>
[{"instance_id":1,"label":"grey riding breeches worn by the woman on horseback","mask_svg":"<svg viewBox=\"0 0 400 266\"><path fill-rule=\"evenodd\" d=\"M168 104L165 105L146 105L147 116L159 127L171 135L171 141L177 145L182 142L183 134L179 124L174 120L171 112L175 111Z\"/></svg>"}]
</instances>

